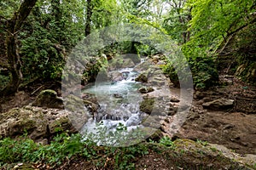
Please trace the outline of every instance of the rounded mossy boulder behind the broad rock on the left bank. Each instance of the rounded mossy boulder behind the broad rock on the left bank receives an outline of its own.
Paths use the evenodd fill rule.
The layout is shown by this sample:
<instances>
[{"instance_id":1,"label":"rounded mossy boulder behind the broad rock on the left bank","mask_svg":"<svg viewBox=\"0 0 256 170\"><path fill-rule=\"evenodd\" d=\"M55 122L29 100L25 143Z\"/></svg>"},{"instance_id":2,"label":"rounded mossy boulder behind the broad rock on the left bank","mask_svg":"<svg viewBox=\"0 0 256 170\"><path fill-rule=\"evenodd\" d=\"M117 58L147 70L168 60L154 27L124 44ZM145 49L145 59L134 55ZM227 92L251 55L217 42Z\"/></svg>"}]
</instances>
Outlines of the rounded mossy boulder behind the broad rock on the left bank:
<instances>
[{"instance_id":1,"label":"rounded mossy boulder behind the broad rock on the left bank","mask_svg":"<svg viewBox=\"0 0 256 170\"><path fill-rule=\"evenodd\" d=\"M38 94L37 99L32 103L33 106L63 109L63 100L57 96L54 90L43 90Z\"/></svg>"}]
</instances>

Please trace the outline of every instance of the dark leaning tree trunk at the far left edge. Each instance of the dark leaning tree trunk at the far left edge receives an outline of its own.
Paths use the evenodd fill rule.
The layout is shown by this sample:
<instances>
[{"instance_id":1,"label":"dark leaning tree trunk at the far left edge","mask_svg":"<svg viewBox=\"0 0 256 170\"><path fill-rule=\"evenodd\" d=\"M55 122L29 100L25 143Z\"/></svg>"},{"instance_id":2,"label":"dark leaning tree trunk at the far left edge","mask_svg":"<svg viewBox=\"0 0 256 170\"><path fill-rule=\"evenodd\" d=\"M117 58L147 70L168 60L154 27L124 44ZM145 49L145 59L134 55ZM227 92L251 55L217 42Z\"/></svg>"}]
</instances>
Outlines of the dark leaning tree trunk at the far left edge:
<instances>
[{"instance_id":1,"label":"dark leaning tree trunk at the far left edge","mask_svg":"<svg viewBox=\"0 0 256 170\"><path fill-rule=\"evenodd\" d=\"M23 22L30 14L36 2L37 0L25 0L23 3L21 3L19 10L15 12L14 16L7 21L6 54L8 59L10 80L7 86L3 88L1 93L3 96L14 94L19 88L22 80L17 37L21 26L23 26Z\"/></svg>"}]
</instances>

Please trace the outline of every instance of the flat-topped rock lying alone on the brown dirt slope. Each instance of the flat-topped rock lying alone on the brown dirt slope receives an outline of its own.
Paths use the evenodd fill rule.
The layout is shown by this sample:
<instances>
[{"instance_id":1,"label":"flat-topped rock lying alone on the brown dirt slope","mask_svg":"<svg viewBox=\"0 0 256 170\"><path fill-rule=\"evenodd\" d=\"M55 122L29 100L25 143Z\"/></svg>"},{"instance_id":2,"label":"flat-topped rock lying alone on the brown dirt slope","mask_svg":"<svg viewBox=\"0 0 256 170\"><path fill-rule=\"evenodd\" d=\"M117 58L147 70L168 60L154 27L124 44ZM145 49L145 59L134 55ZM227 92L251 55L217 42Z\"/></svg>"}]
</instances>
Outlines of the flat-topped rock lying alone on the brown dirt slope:
<instances>
[{"instance_id":1,"label":"flat-topped rock lying alone on the brown dirt slope","mask_svg":"<svg viewBox=\"0 0 256 170\"><path fill-rule=\"evenodd\" d=\"M212 101L209 101L207 103L204 103L203 108L205 109L211 109L211 110L226 110L230 109L234 106L234 100L232 99L215 99Z\"/></svg>"}]
</instances>

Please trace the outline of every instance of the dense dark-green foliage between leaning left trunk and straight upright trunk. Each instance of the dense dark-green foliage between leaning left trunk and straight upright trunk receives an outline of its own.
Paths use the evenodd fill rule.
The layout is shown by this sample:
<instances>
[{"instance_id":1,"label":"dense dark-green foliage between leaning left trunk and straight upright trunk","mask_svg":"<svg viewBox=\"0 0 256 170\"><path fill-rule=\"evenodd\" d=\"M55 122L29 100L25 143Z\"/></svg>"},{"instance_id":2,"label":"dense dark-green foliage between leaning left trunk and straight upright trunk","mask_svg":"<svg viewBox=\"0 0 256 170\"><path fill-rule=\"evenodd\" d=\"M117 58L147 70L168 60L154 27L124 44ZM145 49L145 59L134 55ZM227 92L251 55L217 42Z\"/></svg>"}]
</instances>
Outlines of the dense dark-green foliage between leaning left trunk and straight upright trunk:
<instances>
[{"instance_id":1,"label":"dense dark-green foliage between leaning left trunk and straight upright trunk","mask_svg":"<svg viewBox=\"0 0 256 170\"><path fill-rule=\"evenodd\" d=\"M61 77L67 53L82 35L79 8L66 1L40 2L20 32L23 72L30 77ZM49 6L48 11L44 11ZM50 10L52 9L52 10ZM71 14L70 11L77 13ZM73 17L76 17L76 21Z\"/></svg>"}]
</instances>

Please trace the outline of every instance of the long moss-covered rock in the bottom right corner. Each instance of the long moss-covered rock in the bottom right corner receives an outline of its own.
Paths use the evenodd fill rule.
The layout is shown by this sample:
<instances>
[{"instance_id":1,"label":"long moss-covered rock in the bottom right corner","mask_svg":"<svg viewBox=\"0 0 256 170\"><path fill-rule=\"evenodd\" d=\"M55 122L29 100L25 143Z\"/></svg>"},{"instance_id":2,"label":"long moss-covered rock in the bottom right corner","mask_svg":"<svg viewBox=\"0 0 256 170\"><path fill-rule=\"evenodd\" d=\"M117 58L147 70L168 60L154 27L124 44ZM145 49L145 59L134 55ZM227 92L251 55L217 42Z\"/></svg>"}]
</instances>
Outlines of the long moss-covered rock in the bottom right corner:
<instances>
[{"instance_id":1,"label":"long moss-covered rock in the bottom right corner","mask_svg":"<svg viewBox=\"0 0 256 170\"><path fill-rule=\"evenodd\" d=\"M184 169L198 169L200 167L200 169L246 170L251 169L249 166L255 163L255 161L248 163L242 156L227 151L218 144L205 145L189 139L176 139L173 144L175 145L174 153L170 153L169 156L175 156L175 162L182 162L182 165L186 165ZM179 155L181 152L183 154Z\"/></svg>"}]
</instances>

